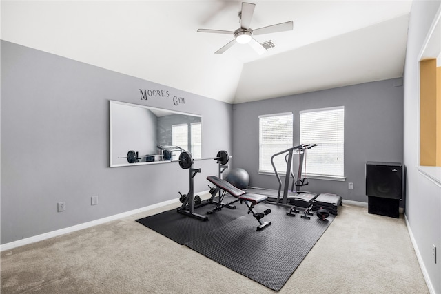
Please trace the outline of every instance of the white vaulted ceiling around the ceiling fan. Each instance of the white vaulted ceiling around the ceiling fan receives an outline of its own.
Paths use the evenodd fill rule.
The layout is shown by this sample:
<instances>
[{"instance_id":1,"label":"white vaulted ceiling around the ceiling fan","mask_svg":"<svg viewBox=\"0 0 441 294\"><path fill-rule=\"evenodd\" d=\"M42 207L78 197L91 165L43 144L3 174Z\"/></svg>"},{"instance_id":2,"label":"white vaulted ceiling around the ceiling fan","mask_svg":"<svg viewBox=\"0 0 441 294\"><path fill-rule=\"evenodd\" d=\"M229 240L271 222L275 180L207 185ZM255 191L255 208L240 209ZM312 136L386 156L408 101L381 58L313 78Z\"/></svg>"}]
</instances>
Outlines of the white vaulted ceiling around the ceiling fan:
<instances>
[{"instance_id":1,"label":"white vaulted ceiling around the ceiling fan","mask_svg":"<svg viewBox=\"0 0 441 294\"><path fill-rule=\"evenodd\" d=\"M242 1L1 1L1 39L228 103L401 77L411 1L249 1L258 55L227 34Z\"/></svg>"}]
</instances>

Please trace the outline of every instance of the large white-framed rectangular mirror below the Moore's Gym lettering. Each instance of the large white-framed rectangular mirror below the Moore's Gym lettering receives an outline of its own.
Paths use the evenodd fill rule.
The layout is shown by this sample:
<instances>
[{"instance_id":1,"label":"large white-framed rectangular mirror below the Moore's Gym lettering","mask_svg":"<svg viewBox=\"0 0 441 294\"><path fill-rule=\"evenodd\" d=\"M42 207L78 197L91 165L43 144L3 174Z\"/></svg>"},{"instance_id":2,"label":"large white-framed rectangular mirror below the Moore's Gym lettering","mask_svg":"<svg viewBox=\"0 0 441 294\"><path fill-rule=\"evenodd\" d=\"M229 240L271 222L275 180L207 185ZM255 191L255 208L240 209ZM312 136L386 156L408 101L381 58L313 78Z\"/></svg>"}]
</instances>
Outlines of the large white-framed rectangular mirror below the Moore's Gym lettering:
<instances>
[{"instance_id":1,"label":"large white-framed rectangular mirror below the Moore's Gym lettering","mask_svg":"<svg viewBox=\"0 0 441 294\"><path fill-rule=\"evenodd\" d=\"M109 101L110 167L178 160L181 151L202 155L202 116Z\"/></svg>"}]
</instances>

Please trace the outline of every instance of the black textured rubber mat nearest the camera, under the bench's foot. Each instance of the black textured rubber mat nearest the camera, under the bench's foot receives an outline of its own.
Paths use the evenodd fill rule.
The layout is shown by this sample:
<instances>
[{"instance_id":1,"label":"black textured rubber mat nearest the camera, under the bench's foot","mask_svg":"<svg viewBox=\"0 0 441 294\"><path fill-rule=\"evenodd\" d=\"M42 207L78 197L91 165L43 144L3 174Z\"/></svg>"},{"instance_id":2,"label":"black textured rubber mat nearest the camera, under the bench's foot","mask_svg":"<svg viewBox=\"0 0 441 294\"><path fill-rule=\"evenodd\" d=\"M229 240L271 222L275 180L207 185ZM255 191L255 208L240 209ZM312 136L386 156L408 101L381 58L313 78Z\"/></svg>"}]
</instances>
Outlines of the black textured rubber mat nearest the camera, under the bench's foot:
<instances>
[{"instance_id":1,"label":"black textured rubber mat nearest the camera, under the bench's foot","mask_svg":"<svg viewBox=\"0 0 441 294\"><path fill-rule=\"evenodd\" d=\"M244 215L218 227L196 240L185 243L229 269L279 291L294 273L322 233L334 220L322 221L287 216L285 207L259 204L256 210L271 209L264 221L271 225L256 231L258 222L252 215Z\"/></svg>"}]
</instances>

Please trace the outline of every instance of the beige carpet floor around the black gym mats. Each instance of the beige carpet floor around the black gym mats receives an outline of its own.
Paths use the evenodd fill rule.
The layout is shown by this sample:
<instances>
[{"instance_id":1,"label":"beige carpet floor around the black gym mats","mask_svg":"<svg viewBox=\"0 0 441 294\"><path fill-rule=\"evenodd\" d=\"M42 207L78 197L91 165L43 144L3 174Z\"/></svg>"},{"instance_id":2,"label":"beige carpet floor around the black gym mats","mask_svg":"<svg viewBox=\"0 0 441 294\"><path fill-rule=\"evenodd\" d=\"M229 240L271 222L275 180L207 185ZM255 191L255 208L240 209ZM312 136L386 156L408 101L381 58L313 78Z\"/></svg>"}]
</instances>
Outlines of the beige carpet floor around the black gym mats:
<instances>
[{"instance_id":1,"label":"beige carpet floor around the black gym mats","mask_svg":"<svg viewBox=\"0 0 441 294\"><path fill-rule=\"evenodd\" d=\"M3 251L1 294L277 293L135 222L175 207ZM344 204L278 293L429 291L403 216Z\"/></svg>"}]
</instances>

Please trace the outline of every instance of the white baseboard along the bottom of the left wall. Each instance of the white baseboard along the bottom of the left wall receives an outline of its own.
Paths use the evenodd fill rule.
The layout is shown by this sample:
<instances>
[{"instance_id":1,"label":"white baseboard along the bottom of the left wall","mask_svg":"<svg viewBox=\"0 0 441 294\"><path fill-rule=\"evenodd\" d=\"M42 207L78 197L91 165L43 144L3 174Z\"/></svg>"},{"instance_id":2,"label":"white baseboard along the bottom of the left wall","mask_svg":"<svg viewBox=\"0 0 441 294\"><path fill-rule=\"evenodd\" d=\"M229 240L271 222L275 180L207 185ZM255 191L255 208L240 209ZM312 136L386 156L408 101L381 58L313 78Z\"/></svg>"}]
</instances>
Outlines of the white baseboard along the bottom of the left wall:
<instances>
[{"instance_id":1,"label":"white baseboard along the bottom of the left wall","mask_svg":"<svg viewBox=\"0 0 441 294\"><path fill-rule=\"evenodd\" d=\"M43 240L46 240L46 239L49 239L49 238L54 238L54 237L57 237L59 235L64 235L66 233L72 233L74 231L79 231L79 230L82 230L82 229L87 229L89 227L93 227L93 226L96 226L98 224L103 224L105 222L111 222L112 220L118 220L119 218L124 218L125 216L132 216L133 214L136 214L136 213L141 213L141 212L144 212L144 211L149 211L149 210L156 209L158 207L163 207L165 205L173 204L173 203L179 203L179 200L177 200L177 199L167 200L167 201L164 201L164 202L160 202L160 203L149 205L147 207L142 207L140 209L134 209L134 210L131 210L131 211L126 211L126 212L123 212L123 213L115 214L114 216L107 216L106 218L100 218L99 220L92 220L91 222L84 222L83 224L76 224L75 226L72 226L72 227L67 227L67 228L64 228L64 229L59 229L57 231L43 233L41 235L35 235L35 236L30 237L30 238L24 238L24 239L17 240L17 241L14 241L14 242L2 244L2 245L0 245L0 251L6 251L6 250L14 249L14 248L17 248L19 246L23 246L23 245L27 245L27 244L32 244L32 243L43 241Z\"/></svg>"}]
</instances>

